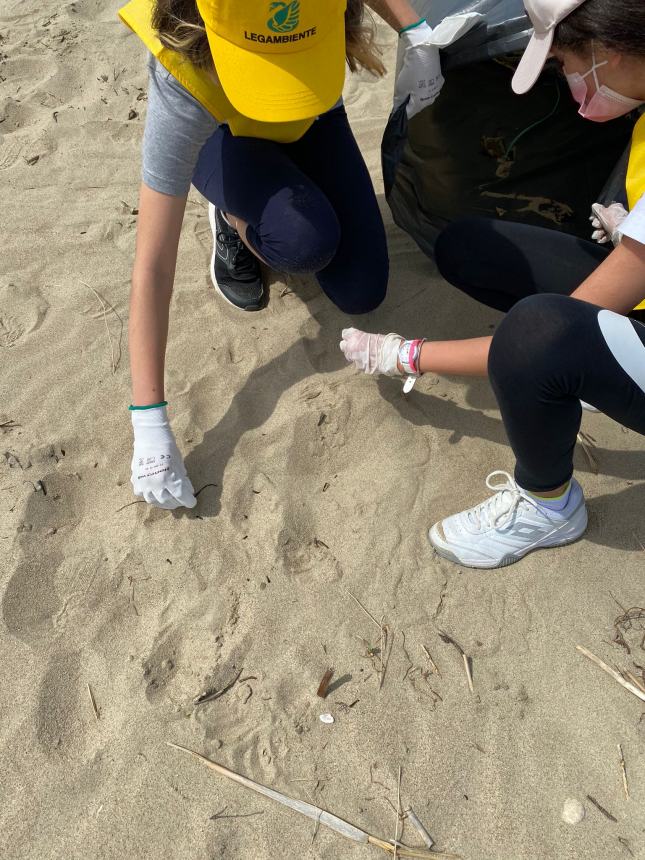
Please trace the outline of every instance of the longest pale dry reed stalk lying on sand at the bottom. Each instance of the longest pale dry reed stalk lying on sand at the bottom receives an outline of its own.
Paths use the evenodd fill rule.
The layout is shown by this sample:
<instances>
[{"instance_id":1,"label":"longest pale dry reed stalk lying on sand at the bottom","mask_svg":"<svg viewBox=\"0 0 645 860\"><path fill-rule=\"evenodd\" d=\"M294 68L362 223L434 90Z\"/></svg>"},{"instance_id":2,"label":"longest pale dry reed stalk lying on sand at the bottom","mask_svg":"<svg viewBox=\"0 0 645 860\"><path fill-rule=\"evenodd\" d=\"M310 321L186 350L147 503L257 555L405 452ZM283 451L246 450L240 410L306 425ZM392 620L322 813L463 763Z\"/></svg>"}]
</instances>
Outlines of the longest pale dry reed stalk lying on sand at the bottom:
<instances>
[{"instance_id":1,"label":"longest pale dry reed stalk lying on sand at the bottom","mask_svg":"<svg viewBox=\"0 0 645 860\"><path fill-rule=\"evenodd\" d=\"M254 782L252 779L242 776L239 773L235 773L235 771L229 770L227 767L224 767L224 765L217 764L217 762L211 761L206 758L206 756L188 749L188 747L182 747L179 744L174 744L170 741L168 741L168 746L194 756L220 776L225 776L227 779L237 782L245 788L251 789L251 791L256 791L258 794L264 795L264 797L268 797L271 800L275 800L277 803L281 803L283 806L287 806L289 809L293 809L295 812L300 813L300 815L305 815L313 821L318 821L320 824L325 827L329 827L331 830L334 830L346 839L351 839L353 842L359 842L362 845L375 845L377 848L381 848L388 854L393 854L395 850L398 850L397 857L401 858L422 857L427 858L427 860L461 860L458 854L442 854L434 851L426 851L425 849L420 848L393 846L389 842L385 842L385 840L379 839L377 836L372 836L365 830L361 830L354 824L350 824L348 821L338 818L336 815L332 815L330 812L326 812L318 806L314 806L312 803L306 803L303 800L296 800L293 797L282 794L280 791L275 791L273 788L268 788L266 785Z\"/></svg>"}]
</instances>

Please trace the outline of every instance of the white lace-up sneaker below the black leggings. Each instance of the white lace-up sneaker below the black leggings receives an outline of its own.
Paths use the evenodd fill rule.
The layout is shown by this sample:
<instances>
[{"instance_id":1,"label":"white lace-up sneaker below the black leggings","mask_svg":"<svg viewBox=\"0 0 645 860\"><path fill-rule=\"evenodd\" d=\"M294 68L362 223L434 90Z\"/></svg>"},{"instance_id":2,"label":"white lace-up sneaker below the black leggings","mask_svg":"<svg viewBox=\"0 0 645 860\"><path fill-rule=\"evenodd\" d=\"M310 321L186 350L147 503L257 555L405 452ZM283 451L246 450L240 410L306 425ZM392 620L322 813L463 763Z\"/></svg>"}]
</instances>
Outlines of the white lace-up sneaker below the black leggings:
<instances>
[{"instance_id":1,"label":"white lace-up sneaker below the black leggings","mask_svg":"<svg viewBox=\"0 0 645 860\"><path fill-rule=\"evenodd\" d=\"M504 483L491 483L498 475ZM534 549L572 543L587 528L585 499L575 479L562 511L542 508L508 472L491 472L486 486L497 493L435 523L428 532L430 543L443 558L465 567L505 567Z\"/></svg>"}]
</instances>

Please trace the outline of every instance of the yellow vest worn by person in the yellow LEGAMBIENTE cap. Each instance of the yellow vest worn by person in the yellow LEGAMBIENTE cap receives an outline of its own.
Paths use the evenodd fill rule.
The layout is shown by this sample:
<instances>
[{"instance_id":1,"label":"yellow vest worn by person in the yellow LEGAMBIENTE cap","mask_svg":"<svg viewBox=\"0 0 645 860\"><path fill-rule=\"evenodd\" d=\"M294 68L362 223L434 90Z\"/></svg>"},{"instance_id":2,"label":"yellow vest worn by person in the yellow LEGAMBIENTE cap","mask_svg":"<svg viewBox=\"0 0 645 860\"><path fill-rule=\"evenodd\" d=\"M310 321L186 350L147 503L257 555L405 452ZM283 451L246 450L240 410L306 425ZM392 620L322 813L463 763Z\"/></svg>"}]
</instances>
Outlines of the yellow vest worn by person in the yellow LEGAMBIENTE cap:
<instances>
[{"instance_id":1,"label":"yellow vest worn by person in the yellow LEGAMBIENTE cap","mask_svg":"<svg viewBox=\"0 0 645 860\"><path fill-rule=\"evenodd\" d=\"M258 122L238 113L213 73L194 66L181 54L164 47L152 27L154 0L130 0L119 17L179 83L211 113L225 122L237 137L260 137L277 143L293 143L311 127L316 117L297 122Z\"/></svg>"}]
</instances>

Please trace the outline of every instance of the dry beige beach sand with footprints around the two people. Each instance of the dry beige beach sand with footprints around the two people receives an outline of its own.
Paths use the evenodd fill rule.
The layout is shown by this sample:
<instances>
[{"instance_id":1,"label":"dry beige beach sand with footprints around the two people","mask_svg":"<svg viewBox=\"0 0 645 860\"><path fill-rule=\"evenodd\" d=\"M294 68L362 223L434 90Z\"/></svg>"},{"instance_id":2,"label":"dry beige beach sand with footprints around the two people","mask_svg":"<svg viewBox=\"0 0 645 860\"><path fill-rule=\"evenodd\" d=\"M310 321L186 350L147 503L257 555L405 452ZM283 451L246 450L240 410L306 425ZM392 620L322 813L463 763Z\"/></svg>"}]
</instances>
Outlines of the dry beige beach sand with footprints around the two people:
<instances>
[{"instance_id":1,"label":"dry beige beach sand with footprints around the two people","mask_svg":"<svg viewBox=\"0 0 645 860\"><path fill-rule=\"evenodd\" d=\"M645 603L642 439L585 417L601 474L578 453L580 543L492 573L440 561L427 526L512 466L488 385L424 378L404 398L355 374L337 348L350 320L309 281L276 276L266 310L236 313L192 194L167 382L205 488L189 513L130 504L122 324L146 76L116 9L0 8L0 856L379 856L313 839L175 741L384 838L401 766L403 807L467 860L645 857L642 705L575 650L645 662L640 621L631 653L612 643L618 603ZM347 87L379 193L391 85ZM383 210L391 287L363 327L493 328ZM389 629L382 689L379 628L348 590ZM474 693L441 630L472 656ZM567 798L586 807L576 826ZM420 844L408 822L404 841Z\"/></svg>"}]
</instances>

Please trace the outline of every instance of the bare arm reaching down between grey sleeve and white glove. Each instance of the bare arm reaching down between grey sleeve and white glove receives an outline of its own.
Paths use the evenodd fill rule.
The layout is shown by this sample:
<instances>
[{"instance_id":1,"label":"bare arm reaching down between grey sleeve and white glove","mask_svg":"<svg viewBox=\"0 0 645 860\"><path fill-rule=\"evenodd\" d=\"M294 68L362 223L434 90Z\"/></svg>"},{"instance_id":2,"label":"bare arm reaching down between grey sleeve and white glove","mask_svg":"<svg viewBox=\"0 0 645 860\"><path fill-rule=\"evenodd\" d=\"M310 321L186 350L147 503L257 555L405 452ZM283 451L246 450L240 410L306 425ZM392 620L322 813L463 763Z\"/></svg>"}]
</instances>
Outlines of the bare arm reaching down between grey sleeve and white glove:
<instances>
[{"instance_id":1,"label":"bare arm reaching down between grey sleeve and white glove","mask_svg":"<svg viewBox=\"0 0 645 860\"><path fill-rule=\"evenodd\" d=\"M186 197L141 185L129 322L135 406L164 400L168 315L185 208Z\"/></svg>"}]
</instances>

